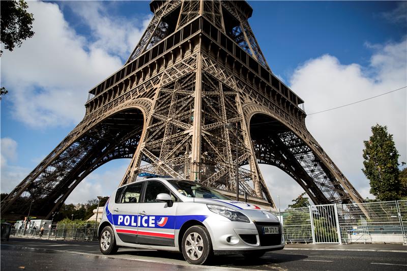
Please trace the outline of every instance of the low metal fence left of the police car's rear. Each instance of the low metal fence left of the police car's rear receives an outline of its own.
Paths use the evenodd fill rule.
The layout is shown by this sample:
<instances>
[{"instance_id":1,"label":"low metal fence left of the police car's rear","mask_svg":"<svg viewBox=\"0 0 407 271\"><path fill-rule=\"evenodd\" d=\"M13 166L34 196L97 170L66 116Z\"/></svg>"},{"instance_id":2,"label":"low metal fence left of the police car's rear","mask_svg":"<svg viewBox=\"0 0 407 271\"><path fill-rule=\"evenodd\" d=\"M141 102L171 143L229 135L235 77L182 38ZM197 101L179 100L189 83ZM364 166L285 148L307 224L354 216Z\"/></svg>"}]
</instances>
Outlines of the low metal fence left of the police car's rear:
<instances>
[{"instance_id":1,"label":"low metal fence left of the police car's rear","mask_svg":"<svg viewBox=\"0 0 407 271\"><path fill-rule=\"evenodd\" d=\"M74 240L96 240L97 228L95 224L57 224L44 229L12 229L10 235L38 237L44 239L74 239Z\"/></svg>"}]
</instances>

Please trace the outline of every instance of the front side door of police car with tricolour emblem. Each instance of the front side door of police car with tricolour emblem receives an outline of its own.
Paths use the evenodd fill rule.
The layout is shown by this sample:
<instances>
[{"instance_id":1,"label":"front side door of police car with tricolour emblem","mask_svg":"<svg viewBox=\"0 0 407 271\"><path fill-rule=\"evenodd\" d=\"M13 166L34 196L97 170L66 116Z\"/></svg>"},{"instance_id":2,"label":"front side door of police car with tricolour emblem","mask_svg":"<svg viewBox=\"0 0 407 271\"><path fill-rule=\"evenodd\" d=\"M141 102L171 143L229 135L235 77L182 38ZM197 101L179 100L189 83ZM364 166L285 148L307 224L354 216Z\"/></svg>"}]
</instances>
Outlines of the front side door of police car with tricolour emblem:
<instances>
[{"instance_id":1,"label":"front side door of police car with tricolour emblem","mask_svg":"<svg viewBox=\"0 0 407 271\"><path fill-rule=\"evenodd\" d=\"M173 205L158 202L157 195L171 195ZM171 194L168 187L158 181L149 180L144 191L144 200L138 208L138 244L156 246L174 246L175 221L178 199Z\"/></svg>"}]
</instances>

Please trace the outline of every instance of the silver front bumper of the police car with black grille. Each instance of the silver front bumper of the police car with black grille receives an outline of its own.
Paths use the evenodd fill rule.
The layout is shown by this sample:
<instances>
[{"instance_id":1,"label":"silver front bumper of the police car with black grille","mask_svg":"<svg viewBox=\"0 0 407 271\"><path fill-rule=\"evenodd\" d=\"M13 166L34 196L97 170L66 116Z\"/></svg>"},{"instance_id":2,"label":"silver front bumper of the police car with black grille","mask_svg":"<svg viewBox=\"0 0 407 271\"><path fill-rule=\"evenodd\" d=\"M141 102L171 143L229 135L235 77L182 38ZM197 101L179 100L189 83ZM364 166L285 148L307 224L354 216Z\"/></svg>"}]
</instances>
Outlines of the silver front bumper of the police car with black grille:
<instances>
[{"instance_id":1,"label":"silver front bumper of the police car with black grille","mask_svg":"<svg viewBox=\"0 0 407 271\"><path fill-rule=\"evenodd\" d=\"M284 248L284 236L279 222L235 222L221 216L208 217L204 222L211 235L215 254L236 254L243 251L272 251ZM263 234L263 226L278 226L279 234Z\"/></svg>"}]
</instances>

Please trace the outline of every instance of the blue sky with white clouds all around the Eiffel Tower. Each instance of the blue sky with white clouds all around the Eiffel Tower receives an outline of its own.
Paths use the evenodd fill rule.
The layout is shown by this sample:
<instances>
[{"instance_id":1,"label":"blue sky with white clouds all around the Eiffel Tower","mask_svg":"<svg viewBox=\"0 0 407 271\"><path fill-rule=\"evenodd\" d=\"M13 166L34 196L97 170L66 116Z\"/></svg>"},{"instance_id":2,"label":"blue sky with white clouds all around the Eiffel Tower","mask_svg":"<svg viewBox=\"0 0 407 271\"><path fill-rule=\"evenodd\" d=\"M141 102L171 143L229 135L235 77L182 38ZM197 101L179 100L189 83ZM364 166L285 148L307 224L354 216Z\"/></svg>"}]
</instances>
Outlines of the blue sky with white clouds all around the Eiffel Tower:
<instances>
[{"instance_id":1,"label":"blue sky with white clouds all around the Eiffel Tower","mask_svg":"<svg viewBox=\"0 0 407 271\"><path fill-rule=\"evenodd\" d=\"M152 17L149 2L29 2L35 36L5 51L1 101L1 191L10 192L75 127L88 91L119 69ZM307 113L407 85L406 2L250 1L249 19L272 71L304 101ZM307 117L307 127L362 196L363 140L387 125L406 158L405 89ZM129 160L87 177L67 202L108 195ZM261 166L281 205L301 188L285 173ZM371 196L370 196L371 197Z\"/></svg>"}]
</instances>

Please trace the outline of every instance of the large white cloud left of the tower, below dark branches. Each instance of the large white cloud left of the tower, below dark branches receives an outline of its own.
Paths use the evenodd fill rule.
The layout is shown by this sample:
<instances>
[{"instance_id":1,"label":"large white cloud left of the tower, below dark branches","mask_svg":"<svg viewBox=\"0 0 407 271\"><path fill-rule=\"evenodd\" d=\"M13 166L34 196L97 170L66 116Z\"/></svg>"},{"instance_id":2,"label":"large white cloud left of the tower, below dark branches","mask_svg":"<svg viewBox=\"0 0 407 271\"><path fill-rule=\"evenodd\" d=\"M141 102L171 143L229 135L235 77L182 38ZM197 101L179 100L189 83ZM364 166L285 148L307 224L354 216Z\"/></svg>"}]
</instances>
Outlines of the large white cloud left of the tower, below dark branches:
<instances>
[{"instance_id":1,"label":"large white cloud left of the tower, below dark branches","mask_svg":"<svg viewBox=\"0 0 407 271\"><path fill-rule=\"evenodd\" d=\"M12 115L30 127L77 124L84 115L88 91L122 66L145 22L131 28L117 18L107 18L98 8L100 3L75 2L75 6L86 5L83 16L89 16L86 22L92 23L91 28L101 24L92 28L95 37L85 38L68 24L57 4L28 5L35 17L35 35L13 52L4 50L2 85L9 90L4 102L12 103Z\"/></svg>"}]
</instances>

